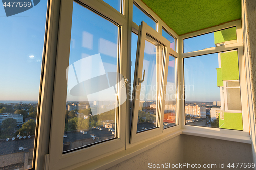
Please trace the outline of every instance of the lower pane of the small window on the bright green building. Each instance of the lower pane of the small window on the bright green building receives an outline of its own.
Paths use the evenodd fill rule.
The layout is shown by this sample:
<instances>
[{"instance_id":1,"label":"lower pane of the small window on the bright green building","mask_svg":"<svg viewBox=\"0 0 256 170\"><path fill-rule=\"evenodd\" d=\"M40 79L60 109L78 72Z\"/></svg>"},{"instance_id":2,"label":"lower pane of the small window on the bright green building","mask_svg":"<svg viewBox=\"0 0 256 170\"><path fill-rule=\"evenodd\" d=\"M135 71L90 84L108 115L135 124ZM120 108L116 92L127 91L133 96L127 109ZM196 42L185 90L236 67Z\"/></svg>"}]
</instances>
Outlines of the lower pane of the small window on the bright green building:
<instances>
[{"instance_id":1,"label":"lower pane of the small window on the bright green building","mask_svg":"<svg viewBox=\"0 0 256 170\"><path fill-rule=\"evenodd\" d=\"M227 89L227 107L228 110L242 110L240 88Z\"/></svg>"}]
</instances>

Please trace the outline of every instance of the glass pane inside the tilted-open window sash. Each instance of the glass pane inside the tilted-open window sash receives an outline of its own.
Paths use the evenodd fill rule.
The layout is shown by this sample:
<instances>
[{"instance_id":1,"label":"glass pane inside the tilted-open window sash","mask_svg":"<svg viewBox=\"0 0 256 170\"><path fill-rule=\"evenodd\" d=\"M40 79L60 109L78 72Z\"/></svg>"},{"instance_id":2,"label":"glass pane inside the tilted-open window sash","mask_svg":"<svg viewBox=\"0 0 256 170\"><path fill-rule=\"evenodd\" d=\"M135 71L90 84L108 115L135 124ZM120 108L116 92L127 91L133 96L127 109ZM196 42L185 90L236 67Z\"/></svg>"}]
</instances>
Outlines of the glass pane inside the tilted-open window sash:
<instances>
[{"instance_id":1,"label":"glass pane inside the tilted-open window sash","mask_svg":"<svg viewBox=\"0 0 256 170\"><path fill-rule=\"evenodd\" d=\"M163 76L164 47L146 36L137 132L155 128L158 124L159 100ZM143 79L143 78L142 78Z\"/></svg>"}]
</instances>

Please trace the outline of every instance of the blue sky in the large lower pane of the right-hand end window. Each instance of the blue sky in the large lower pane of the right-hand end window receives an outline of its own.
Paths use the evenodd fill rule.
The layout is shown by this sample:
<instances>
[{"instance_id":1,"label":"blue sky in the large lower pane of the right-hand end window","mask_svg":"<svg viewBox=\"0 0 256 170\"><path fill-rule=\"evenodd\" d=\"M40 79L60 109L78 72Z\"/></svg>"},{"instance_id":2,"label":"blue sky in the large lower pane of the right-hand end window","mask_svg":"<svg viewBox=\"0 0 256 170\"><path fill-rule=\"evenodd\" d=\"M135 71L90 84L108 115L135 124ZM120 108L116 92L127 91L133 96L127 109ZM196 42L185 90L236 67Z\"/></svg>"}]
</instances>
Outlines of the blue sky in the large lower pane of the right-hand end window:
<instances>
[{"instance_id":1,"label":"blue sky in the large lower pane of the right-hand end window","mask_svg":"<svg viewBox=\"0 0 256 170\"><path fill-rule=\"evenodd\" d=\"M219 68L217 53L184 59L186 101L220 101L216 68Z\"/></svg>"}]
</instances>

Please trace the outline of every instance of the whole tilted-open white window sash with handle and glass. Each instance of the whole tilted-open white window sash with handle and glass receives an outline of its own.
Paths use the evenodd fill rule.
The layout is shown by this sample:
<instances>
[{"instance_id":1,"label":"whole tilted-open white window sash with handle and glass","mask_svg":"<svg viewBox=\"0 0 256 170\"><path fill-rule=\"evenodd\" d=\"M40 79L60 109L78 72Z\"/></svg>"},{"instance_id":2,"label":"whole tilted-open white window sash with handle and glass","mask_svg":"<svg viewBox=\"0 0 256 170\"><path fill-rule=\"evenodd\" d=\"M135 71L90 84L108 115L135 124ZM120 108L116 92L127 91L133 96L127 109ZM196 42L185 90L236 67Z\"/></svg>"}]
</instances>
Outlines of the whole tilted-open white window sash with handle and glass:
<instances>
[{"instance_id":1,"label":"whole tilted-open white window sash with handle and glass","mask_svg":"<svg viewBox=\"0 0 256 170\"><path fill-rule=\"evenodd\" d=\"M142 21L139 26L130 143L163 132L170 42Z\"/></svg>"}]
</instances>

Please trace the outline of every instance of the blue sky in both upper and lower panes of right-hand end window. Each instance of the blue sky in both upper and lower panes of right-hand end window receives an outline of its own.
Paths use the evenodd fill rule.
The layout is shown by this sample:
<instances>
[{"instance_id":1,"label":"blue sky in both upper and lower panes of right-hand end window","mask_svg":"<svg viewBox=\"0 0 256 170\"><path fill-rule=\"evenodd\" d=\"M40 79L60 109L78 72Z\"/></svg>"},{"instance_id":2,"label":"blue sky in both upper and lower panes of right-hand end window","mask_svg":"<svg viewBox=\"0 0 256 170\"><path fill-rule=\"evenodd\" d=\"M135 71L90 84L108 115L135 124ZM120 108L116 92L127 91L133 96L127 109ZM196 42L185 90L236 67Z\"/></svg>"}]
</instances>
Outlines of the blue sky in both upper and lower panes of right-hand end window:
<instances>
[{"instance_id":1,"label":"blue sky in both upper and lower panes of right-hand end window","mask_svg":"<svg viewBox=\"0 0 256 170\"><path fill-rule=\"evenodd\" d=\"M214 33L184 39L183 43L184 53L215 47ZM185 87L190 87L185 89L186 101L220 101L216 68L219 68L217 53L184 59Z\"/></svg>"}]
</instances>

